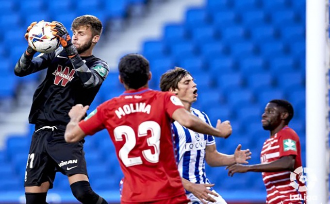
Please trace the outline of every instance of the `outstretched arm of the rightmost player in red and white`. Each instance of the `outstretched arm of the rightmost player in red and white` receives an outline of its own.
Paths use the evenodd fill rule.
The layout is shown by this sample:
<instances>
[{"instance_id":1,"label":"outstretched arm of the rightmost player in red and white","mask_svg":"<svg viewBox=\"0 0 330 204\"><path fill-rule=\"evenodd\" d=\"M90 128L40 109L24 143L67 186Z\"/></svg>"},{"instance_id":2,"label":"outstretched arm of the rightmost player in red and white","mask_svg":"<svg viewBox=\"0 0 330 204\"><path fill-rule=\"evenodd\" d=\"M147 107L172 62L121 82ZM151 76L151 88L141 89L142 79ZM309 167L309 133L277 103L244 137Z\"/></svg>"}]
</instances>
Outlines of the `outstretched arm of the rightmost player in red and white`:
<instances>
[{"instance_id":1,"label":"outstretched arm of the rightmost player in red and white","mask_svg":"<svg viewBox=\"0 0 330 204\"><path fill-rule=\"evenodd\" d=\"M295 155L283 156L276 161L272 161L265 164L255 164L255 165L241 165L234 164L232 166L226 167L228 169L228 175L232 176L234 173L245 173L247 171L254 172L277 172L283 170L293 171L295 167Z\"/></svg>"}]
</instances>

